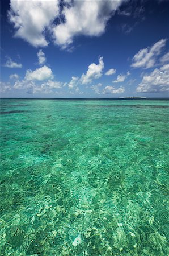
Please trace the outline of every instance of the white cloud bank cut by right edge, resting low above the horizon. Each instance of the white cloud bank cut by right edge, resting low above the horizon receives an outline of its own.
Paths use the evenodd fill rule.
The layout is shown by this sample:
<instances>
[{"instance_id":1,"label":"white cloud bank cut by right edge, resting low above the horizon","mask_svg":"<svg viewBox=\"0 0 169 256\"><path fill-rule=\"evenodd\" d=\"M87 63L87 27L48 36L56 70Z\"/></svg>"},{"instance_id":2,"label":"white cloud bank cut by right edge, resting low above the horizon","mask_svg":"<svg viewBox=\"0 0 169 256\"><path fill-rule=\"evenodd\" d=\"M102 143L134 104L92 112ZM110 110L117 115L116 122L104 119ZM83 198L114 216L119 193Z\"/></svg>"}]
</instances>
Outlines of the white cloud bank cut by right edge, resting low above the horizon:
<instances>
[{"instance_id":1,"label":"white cloud bank cut by right edge, resting low above the horizon","mask_svg":"<svg viewBox=\"0 0 169 256\"><path fill-rule=\"evenodd\" d=\"M153 72L143 76L137 87L137 92L168 92L169 91L169 64L155 68Z\"/></svg>"}]
</instances>

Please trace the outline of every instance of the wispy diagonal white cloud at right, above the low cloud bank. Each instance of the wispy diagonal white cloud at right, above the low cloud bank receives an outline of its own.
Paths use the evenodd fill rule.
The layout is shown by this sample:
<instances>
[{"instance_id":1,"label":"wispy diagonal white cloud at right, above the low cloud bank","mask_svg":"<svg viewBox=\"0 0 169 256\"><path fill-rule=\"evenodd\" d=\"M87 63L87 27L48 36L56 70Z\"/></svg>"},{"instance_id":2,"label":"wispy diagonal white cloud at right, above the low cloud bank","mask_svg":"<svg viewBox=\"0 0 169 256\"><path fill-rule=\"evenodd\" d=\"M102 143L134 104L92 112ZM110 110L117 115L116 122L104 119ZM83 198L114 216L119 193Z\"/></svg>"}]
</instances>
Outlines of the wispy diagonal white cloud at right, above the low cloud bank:
<instances>
[{"instance_id":1,"label":"wispy diagonal white cloud at right, above the low cloud bank","mask_svg":"<svg viewBox=\"0 0 169 256\"><path fill-rule=\"evenodd\" d=\"M151 68L155 65L157 56L162 52L166 39L161 39L151 47L138 51L133 57L133 68Z\"/></svg>"}]
</instances>

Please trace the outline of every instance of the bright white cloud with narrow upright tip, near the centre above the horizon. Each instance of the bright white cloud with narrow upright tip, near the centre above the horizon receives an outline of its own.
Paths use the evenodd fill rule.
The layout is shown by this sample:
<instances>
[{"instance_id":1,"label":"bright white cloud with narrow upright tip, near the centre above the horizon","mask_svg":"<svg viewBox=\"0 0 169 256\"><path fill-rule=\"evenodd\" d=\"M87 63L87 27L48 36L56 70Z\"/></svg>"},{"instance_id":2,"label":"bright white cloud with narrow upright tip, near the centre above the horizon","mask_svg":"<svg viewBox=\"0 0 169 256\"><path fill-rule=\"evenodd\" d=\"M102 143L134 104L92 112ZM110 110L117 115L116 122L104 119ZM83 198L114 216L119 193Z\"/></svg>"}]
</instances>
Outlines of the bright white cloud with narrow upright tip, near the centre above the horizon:
<instances>
[{"instance_id":1,"label":"bright white cloud with narrow upright tip, near the centre above the horizon","mask_svg":"<svg viewBox=\"0 0 169 256\"><path fill-rule=\"evenodd\" d=\"M93 79L98 79L100 76L102 76L103 69L104 69L103 57L100 57L98 65L96 65L95 63L91 63L88 66L86 75L84 73L82 74L81 76L82 84L90 84Z\"/></svg>"}]
</instances>

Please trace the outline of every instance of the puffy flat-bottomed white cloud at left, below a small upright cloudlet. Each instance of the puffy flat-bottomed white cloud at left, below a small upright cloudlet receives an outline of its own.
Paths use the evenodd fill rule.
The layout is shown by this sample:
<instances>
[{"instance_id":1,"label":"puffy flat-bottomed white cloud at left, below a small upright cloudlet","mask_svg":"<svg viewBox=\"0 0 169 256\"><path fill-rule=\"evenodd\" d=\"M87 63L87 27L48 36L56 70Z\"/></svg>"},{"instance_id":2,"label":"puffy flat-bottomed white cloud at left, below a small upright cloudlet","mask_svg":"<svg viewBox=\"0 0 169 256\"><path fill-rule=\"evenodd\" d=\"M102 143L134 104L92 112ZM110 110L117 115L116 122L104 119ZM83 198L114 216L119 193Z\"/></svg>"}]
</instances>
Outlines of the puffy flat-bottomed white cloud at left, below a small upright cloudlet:
<instances>
[{"instance_id":1,"label":"puffy flat-bottomed white cloud at left, below a small upright cloudlet","mask_svg":"<svg viewBox=\"0 0 169 256\"><path fill-rule=\"evenodd\" d=\"M51 79L52 77L53 77L52 69L50 69L47 66L43 66L41 68L35 69L35 71L32 71L31 69L27 70L25 79L43 81L43 80Z\"/></svg>"}]
</instances>

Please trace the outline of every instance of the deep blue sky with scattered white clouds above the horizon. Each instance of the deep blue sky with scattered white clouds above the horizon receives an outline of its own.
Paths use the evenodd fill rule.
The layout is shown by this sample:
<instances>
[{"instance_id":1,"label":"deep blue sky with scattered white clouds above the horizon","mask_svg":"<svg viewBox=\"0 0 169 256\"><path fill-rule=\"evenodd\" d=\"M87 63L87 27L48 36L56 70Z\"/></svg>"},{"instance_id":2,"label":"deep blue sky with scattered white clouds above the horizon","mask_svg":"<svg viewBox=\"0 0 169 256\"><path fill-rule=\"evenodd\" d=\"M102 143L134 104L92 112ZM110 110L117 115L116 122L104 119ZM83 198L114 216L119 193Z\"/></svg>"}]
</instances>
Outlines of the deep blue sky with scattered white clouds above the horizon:
<instances>
[{"instance_id":1,"label":"deep blue sky with scattered white clouds above the horizon","mask_svg":"<svg viewBox=\"0 0 169 256\"><path fill-rule=\"evenodd\" d=\"M168 97L168 0L2 0L1 97Z\"/></svg>"}]
</instances>

